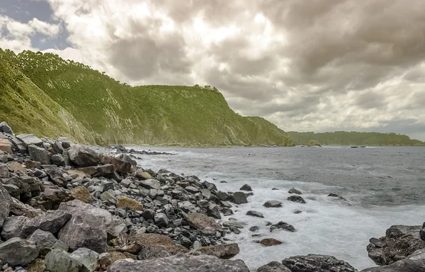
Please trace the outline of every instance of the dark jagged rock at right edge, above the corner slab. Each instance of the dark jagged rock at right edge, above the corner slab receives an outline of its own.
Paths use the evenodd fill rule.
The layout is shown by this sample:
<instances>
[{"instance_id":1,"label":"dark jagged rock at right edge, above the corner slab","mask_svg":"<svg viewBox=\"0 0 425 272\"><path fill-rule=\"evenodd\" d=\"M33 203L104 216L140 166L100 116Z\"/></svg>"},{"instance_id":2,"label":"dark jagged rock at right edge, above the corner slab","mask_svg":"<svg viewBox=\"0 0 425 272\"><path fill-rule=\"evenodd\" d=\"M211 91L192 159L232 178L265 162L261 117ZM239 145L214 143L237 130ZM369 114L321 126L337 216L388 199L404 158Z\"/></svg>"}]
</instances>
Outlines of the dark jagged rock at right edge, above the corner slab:
<instances>
[{"instance_id":1,"label":"dark jagged rock at right edge, above the corner slab","mask_svg":"<svg viewBox=\"0 0 425 272\"><path fill-rule=\"evenodd\" d=\"M370 239L367 246L369 258L382 266L399 261L418 249L425 247L419 232L421 226L393 225L385 232L385 237Z\"/></svg>"}]
</instances>

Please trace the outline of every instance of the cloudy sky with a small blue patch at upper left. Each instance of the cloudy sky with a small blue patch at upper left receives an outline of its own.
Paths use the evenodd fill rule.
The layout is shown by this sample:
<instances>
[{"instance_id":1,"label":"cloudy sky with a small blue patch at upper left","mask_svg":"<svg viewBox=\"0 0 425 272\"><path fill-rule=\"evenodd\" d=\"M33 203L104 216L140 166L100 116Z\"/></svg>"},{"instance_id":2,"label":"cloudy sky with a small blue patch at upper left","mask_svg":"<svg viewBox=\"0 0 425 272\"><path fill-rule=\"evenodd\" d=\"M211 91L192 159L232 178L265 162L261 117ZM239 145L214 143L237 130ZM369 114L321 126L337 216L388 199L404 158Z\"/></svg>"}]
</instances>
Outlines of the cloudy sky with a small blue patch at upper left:
<instances>
[{"instance_id":1,"label":"cloudy sky with a small blue patch at upper left","mask_svg":"<svg viewBox=\"0 0 425 272\"><path fill-rule=\"evenodd\" d=\"M283 130L425 140L423 0L0 0L0 47L215 86Z\"/></svg>"}]
</instances>

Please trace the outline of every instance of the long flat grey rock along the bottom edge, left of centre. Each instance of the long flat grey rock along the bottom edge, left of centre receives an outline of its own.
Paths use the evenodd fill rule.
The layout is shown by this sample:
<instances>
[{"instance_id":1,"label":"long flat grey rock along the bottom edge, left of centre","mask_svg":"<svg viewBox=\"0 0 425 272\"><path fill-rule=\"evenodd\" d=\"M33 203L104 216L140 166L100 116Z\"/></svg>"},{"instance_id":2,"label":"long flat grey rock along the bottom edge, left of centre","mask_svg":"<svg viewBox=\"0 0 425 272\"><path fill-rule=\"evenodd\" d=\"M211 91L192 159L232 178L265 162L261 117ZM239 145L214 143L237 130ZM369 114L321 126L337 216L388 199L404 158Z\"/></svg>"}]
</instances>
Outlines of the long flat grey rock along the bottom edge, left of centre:
<instances>
[{"instance_id":1,"label":"long flat grey rock along the bottom edge, left of centre","mask_svg":"<svg viewBox=\"0 0 425 272\"><path fill-rule=\"evenodd\" d=\"M108 272L249 272L241 260L230 261L208 255L179 254L162 259L134 261L119 260L108 268Z\"/></svg>"}]
</instances>

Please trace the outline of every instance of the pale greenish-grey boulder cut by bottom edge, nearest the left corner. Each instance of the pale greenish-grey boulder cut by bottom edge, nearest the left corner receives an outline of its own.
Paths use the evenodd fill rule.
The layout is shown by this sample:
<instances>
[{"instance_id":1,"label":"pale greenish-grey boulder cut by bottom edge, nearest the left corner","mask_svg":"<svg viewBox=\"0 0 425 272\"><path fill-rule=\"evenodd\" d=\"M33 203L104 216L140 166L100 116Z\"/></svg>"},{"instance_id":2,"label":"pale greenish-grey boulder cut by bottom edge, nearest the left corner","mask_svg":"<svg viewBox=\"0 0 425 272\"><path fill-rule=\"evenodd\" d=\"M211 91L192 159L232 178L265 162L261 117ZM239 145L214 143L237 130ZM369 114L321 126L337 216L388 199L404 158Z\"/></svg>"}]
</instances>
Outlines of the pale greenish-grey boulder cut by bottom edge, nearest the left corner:
<instances>
[{"instance_id":1,"label":"pale greenish-grey boulder cut by bottom edge, nearest the left corner","mask_svg":"<svg viewBox=\"0 0 425 272\"><path fill-rule=\"evenodd\" d=\"M47 271L79 272L83 271L83 264L73 259L69 254L60 249L52 249L45 257Z\"/></svg>"}]
</instances>

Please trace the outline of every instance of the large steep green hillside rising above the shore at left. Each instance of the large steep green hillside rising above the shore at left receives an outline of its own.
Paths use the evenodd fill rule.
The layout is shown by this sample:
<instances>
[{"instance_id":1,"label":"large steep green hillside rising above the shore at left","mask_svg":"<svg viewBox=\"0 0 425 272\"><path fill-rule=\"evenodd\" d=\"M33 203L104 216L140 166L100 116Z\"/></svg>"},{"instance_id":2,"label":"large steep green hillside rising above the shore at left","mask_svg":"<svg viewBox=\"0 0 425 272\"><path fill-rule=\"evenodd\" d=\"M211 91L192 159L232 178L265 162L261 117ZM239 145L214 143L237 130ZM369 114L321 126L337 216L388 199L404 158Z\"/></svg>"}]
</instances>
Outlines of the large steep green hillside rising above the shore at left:
<instances>
[{"instance_id":1,"label":"large steep green hillside rising above the shore at left","mask_svg":"<svg viewBox=\"0 0 425 272\"><path fill-rule=\"evenodd\" d=\"M0 120L17 132L92 143L293 145L268 121L234 113L210 86L132 87L50 53L0 57Z\"/></svg>"}]
</instances>

